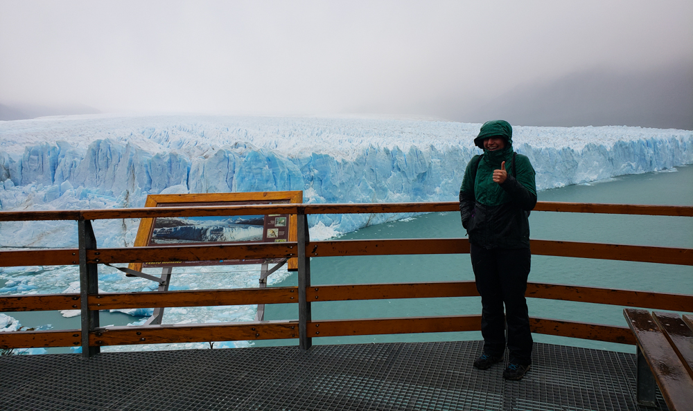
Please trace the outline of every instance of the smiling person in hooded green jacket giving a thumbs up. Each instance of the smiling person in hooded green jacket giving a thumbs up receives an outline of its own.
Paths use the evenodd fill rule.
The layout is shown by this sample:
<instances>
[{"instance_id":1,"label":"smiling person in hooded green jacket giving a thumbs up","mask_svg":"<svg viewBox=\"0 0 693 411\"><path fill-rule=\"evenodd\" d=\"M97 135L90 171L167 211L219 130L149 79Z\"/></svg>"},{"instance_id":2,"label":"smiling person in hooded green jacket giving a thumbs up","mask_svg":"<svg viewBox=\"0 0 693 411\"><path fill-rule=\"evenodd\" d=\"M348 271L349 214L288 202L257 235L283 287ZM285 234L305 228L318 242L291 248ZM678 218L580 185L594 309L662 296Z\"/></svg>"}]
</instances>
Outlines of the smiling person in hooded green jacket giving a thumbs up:
<instances>
[{"instance_id":1,"label":"smiling person in hooded green jacket giving a thumbs up","mask_svg":"<svg viewBox=\"0 0 693 411\"><path fill-rule=\"evenodd\" d=\"M529 158L513 150L512 135L507 121L482 125L474 143L484 154L467 164L459 212L482 298L484 351L473 365L490 368L502 360L507 345L509 363L503 377L520 380L532 365L525 291L531 260L528 217L536 204L536 185Z\"/></svg>"}]
</instances>

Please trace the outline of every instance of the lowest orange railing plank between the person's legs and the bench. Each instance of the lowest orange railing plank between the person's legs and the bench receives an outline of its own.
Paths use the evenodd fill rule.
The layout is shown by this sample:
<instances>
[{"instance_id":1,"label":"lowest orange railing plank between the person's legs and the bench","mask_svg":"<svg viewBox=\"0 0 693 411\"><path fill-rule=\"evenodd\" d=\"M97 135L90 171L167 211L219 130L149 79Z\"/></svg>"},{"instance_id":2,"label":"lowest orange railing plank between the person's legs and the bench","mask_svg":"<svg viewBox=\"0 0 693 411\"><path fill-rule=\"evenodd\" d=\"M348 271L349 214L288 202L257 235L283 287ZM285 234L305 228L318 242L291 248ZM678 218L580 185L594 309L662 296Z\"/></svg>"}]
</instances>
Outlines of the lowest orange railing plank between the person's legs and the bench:
<instances>
[{"instance_id":1,"label":"lowest orange railing plank between the person's legs and the bench","mask_svg":"<svg viewBox=\"0 0 693 411\"><path fill-rule=\"evenodd\" d=\"M615 325L530 317L529 329L533 333L551 336L582 338L584 340L606 341L608 343L635 344L633 334L631 334L628 327Z\"/></svg>"}]
</instances>

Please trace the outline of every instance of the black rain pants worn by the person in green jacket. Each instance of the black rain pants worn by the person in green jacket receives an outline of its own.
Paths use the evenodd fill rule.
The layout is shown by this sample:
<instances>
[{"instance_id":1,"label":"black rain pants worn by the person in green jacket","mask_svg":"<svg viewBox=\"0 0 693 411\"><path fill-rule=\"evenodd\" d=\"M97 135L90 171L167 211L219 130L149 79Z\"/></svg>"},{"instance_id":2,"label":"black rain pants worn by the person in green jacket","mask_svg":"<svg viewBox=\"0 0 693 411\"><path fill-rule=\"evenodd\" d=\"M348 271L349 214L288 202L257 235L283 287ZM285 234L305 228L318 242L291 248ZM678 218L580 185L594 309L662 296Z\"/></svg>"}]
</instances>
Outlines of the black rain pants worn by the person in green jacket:
<instances>
[{"instance_id":1,"label":"black rain pants worn by the person in green jacket","mask_svg":"<svg viewBox=\"0 0 693 411\"><path fill-rule=\"evenodd\" d=\"M529 248L487 250L474 244L470 247L476 286L481 295L484 354L502 356L505 353L505 304L510 363L531 364L532 334L525 300L532 257Z\"/></svg>"}]
</instances>

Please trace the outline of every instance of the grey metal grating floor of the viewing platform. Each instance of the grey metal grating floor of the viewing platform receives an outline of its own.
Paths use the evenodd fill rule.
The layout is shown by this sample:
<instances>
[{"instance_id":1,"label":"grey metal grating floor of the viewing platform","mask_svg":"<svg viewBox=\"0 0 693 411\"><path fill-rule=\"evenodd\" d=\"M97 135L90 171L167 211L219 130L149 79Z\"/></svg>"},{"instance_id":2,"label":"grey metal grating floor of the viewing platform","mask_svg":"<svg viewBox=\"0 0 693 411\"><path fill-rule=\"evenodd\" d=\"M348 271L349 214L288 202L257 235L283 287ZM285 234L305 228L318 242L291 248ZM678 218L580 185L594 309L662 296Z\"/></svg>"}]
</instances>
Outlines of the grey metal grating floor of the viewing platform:
<instances>
[{"instance_id":1,"label":"grey metal grating floor of the viewing platform","mask_svg":"<svg viewBox=\"0 0 693 411\"><path fill-rule=\"evenodd\" d=\"M520 382L480 341L0 357L0 410L667 410L635 404L635 356L534 345Z\"/></svg>"}]
</instances>

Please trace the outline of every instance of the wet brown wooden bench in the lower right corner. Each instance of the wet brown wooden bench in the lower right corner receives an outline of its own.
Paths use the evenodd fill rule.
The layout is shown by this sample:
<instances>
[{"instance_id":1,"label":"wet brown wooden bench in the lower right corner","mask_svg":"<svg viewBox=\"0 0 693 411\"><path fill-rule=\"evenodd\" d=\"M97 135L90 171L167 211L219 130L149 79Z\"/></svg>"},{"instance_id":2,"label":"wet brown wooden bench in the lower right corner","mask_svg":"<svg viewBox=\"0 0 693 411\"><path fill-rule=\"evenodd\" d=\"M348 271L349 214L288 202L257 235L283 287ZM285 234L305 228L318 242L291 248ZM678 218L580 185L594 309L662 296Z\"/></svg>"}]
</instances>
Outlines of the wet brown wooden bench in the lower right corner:
<instances>
[{"instance_id":1,"label":"wet brown wooden bench in the lower right corner","mask_svg":"<svg viewBox=\"0 0 693 411\"><path fill-rule=\"evenodd\" d=\"M637 341L635 396L655 405L655 382L669 410L693 410L693 316L624 309Z\"/></svg>"}]
</instances>

